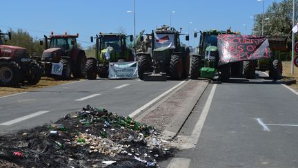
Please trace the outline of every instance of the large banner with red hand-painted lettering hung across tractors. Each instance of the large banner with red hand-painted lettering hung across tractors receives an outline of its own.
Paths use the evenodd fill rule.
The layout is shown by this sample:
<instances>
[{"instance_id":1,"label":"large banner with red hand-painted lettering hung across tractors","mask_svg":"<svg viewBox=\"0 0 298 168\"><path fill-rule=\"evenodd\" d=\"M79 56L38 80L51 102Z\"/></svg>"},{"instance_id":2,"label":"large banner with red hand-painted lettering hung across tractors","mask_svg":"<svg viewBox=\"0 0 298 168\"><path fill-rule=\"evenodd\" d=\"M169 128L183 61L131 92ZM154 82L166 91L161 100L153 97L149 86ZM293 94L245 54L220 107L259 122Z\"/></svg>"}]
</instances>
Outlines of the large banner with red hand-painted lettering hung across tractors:
<instances>
[{"instance_id":1,"label":"large banner with red hand-painted lettering hung across tractors","mask_svg":"<svg viewBox=\"0 0 298 168\"><path fill-rule=\"evenodd\" d=\"M219 65L270 58L268 39L253 35L218 35Z\"/></svg>"}]
</instances>

